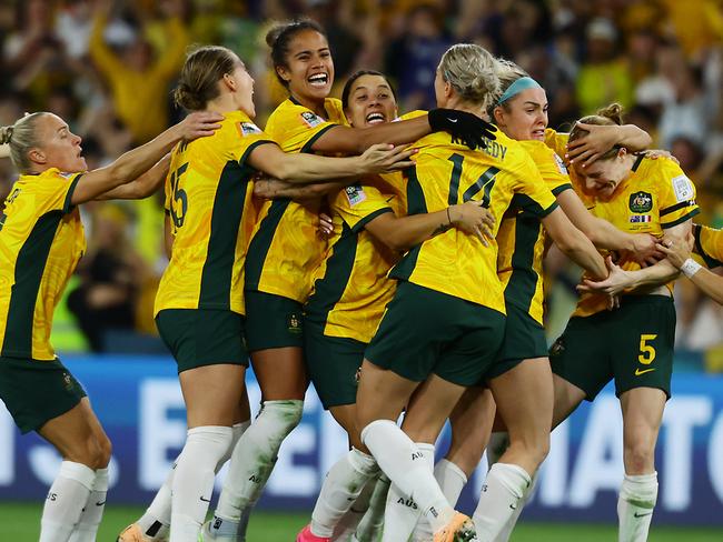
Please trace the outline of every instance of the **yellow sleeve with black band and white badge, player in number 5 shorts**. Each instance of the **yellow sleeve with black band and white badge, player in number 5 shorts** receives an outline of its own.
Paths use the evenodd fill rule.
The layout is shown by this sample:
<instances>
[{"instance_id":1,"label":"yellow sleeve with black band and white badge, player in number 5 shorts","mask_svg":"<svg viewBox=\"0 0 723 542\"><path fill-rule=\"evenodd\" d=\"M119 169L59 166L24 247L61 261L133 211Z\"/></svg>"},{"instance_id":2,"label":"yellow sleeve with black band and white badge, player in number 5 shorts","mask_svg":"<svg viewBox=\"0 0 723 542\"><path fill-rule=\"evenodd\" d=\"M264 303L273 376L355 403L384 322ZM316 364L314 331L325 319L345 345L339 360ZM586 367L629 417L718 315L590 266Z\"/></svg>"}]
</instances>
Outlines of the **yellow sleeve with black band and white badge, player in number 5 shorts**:
<instances>
[{"instance_id":1,"label":"yellow sleeve with black band and white badge, player in number 5 shorts","mask_svg":"<svg viewBox=\"0 0 723 542\"><path fill-rule=\"evenodd\" d=\"M695 202L695 185L673 160L658 159L656 179L657 204L663 230L692 219L700 209Z\"/></svg>"}]
</instances>

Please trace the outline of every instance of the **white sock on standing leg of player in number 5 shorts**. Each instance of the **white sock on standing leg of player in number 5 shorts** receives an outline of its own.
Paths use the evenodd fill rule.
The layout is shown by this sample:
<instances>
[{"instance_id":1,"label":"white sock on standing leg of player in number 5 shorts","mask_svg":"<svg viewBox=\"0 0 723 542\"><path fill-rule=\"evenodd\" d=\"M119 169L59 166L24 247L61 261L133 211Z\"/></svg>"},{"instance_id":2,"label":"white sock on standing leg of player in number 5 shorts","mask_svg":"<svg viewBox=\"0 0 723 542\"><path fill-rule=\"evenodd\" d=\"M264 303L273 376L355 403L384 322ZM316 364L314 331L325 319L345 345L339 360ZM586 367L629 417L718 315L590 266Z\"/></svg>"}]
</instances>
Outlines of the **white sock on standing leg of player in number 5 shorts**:
<instances>
[{"instance_id":1,"label":"white sock on standing leg of player in number 5 shorts","mask_svg":"<svg viewBox=\"0 0 723 542\"><path fill-rule=\"evenodd\" d=\"M618 542L645 542L657 502L657 472L625 474L617 498Z\"/></svg>"}]
</instances>

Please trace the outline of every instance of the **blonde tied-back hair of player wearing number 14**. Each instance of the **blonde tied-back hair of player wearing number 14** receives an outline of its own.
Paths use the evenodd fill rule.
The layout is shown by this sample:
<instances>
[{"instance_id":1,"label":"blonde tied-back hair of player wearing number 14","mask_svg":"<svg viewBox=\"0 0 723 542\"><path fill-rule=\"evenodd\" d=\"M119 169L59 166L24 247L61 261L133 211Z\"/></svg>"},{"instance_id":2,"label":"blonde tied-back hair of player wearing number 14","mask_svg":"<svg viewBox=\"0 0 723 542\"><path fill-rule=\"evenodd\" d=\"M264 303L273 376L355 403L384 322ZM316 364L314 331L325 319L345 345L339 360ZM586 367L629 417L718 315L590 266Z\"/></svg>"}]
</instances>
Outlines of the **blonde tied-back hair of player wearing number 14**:
<instances>
[{"instance_id":1,"label":"blonde tied-back hair of player wearing number 14","mask_svg":"<svg viewBox=\"0 0 723 542\"><path fill-rule=\"evenodd\" d=\"M439 62L442 78L457 94L485 110L499 93L496 68L489 51L472 43L452 46Z\"/></svg>"}]
</instances>

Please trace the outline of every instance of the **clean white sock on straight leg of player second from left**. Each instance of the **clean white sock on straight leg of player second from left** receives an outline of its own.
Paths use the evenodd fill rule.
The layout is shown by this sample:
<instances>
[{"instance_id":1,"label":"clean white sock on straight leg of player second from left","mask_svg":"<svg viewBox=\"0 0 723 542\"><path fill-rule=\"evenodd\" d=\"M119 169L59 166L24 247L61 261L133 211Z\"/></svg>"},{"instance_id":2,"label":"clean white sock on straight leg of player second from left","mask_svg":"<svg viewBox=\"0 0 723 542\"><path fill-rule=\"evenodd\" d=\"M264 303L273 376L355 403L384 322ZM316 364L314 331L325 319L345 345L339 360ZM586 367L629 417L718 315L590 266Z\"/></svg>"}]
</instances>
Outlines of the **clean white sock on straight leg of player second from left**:
<instances>
[{"instance_id":1,"label":"clean white sock on straight leg of player second from left","mask_svg":"<svg viewBox=\"0 0 723 542\"><path fill-rule=\"evenodd\" d=\"M171 490L170 542L197 542L214 493L216 468L231 445L231 428L188 430Z\"/></svg>"}]
</instances>

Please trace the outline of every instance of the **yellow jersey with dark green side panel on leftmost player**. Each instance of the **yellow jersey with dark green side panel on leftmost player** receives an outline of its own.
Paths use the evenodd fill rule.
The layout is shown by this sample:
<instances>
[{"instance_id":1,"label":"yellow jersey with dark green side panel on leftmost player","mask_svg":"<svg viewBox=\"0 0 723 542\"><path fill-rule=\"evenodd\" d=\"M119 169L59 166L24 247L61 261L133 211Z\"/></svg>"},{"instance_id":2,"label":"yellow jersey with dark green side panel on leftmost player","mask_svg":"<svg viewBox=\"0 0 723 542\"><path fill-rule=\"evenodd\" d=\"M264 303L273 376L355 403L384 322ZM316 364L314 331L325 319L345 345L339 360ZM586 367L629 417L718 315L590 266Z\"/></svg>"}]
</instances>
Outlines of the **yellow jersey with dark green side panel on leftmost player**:
<instances>
[{"instance_id":1,"label":"yellow jersey with dark green side panel on leftmost player","mask_svg":"<svg viewBox=\"0 0 723 542\"><path fill-rule=\"evenodd\" d=\"M0 214L0 355L55 360L52 314L86 250L71 205L82 173L20 175Z\"/></svg>"}]
</instances>

